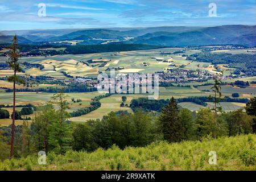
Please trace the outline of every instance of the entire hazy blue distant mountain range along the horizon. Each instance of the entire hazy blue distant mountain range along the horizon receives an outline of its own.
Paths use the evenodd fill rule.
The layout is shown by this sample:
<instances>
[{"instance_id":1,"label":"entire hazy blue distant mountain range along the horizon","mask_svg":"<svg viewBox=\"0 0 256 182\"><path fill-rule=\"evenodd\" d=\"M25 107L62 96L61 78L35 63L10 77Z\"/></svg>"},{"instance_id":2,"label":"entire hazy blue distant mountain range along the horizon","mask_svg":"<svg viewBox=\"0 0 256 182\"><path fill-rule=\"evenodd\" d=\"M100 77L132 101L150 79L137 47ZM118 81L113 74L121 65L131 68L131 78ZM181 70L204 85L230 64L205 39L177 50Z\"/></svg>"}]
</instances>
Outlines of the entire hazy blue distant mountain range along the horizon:
<instances>
[{"instance_id":1,"label":"entire hazy blue distant mountain range along the horizon","mask_svg":"<svg viewBox=\"0 0 256 182\"><path fill-rule=\"evenodd\" d=\"M245 25L1 31L0 43L10 43L14 34L18 35L22 44L80 40L79 44L120 42L171 47L221 44L256 46L256 26Z\"/></svg>"}]
</instances>

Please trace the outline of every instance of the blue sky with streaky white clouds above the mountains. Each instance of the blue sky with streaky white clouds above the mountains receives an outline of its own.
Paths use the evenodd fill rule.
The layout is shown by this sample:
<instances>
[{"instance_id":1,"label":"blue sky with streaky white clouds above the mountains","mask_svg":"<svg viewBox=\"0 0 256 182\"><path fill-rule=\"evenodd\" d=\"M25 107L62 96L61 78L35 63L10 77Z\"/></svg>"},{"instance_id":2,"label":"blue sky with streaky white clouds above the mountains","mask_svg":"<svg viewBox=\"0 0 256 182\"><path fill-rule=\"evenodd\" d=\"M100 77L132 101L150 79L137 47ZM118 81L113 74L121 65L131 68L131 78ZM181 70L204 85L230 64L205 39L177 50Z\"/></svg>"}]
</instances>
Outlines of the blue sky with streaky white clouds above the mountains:
<instances>
[{"instance_id":1,"label":"blue sky with streaky white clouds above the mountains","mask_svg":"<svg viewBox=\"0 0 256 182\"><path fill-rule=\"evenodd\" d=\"M209 3L216 3L216 17L209 17ZM0 30L255 25L255 11L255 0L0 0Z\"/></svg>"}]
</instances>

